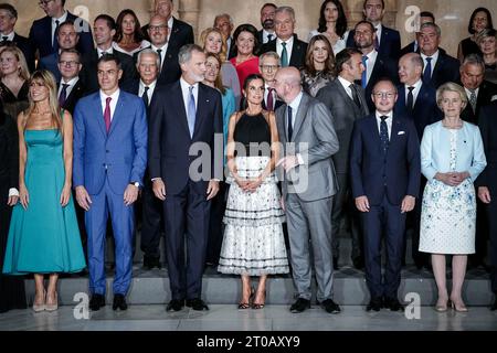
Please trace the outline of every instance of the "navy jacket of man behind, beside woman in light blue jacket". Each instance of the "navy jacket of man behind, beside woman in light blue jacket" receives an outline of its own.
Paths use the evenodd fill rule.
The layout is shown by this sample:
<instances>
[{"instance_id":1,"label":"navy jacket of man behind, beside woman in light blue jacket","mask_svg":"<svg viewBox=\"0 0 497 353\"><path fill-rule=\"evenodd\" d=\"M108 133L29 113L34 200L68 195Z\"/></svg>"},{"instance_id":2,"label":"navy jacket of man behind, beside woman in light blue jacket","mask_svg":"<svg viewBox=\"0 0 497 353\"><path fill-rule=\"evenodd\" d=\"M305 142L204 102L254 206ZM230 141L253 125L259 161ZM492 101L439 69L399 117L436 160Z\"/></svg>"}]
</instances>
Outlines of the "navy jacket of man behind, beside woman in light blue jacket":
<instances>
[{"instance_id":1,"label":"navy jacket of man behind, beside woman in light blue jacket","mask_svg":"<svg viewBox=\"0 0 497 353\"><path fill-rule=\"evenodd\" d=\"M436 105L436 90L431 85L422 84L416 101L414 103L414 109L411 113L408 111L405 106L405 85L399 85L396 89L399 92L399 98L395 103L395 113L414 121L417 138L421 141L424 128L443 118L443 113Z\"/></svg>"}]
</instances>

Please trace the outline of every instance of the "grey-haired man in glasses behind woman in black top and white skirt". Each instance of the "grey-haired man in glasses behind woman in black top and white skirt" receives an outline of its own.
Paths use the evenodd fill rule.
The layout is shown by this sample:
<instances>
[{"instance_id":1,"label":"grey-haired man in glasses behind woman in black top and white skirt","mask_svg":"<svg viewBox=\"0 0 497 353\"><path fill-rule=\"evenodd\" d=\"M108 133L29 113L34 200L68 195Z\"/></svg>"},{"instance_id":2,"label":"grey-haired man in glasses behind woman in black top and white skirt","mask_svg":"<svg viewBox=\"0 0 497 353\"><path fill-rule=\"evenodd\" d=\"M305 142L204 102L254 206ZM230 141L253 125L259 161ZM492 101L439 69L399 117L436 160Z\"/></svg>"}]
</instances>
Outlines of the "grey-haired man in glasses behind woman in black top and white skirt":
<instances>
[{"instance_id":1,"label":"grey-haired man in glasses behind woman in black top and white skirt","mask_svg":"<svg viewBox=\"0 0 497 353\"><path fill-rule=\"evenodd\" d=\"M258 71L264 78L265 85L263 109L268 111L275 111L284 104L276 93L274 82L281 65L279 56L275 52L264 53L258 58Z\"/></svg>"}]
</instances>

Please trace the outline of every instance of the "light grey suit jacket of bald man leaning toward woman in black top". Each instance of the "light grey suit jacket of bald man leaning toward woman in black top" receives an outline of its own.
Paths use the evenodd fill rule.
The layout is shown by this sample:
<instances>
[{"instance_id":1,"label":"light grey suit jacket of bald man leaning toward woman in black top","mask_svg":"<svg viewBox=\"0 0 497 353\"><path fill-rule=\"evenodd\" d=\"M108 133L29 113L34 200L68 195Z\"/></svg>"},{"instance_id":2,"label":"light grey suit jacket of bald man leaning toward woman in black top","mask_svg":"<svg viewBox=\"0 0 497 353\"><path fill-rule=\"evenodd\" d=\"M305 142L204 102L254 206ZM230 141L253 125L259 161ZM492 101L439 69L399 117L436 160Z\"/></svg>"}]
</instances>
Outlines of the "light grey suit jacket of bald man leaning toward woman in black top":
<instances>
[{"instance_id":1,"label":"light grey suit jacket of bald man leaning toward woman in black top","mask_svg":"<svg viewBox=\"0 0 497 353\"><path fill-rule=\"evenodd\" d=\"M331 156L338 151L329 109L316 98L303 94L295 118L292 140L287 136L287 105L276 109L276 124L283 156L300 153L304 164L297 165L283 175L283 194L297 193L305 201L317 201L335 195L338 190Z\"/></svg>"}]
</instances>

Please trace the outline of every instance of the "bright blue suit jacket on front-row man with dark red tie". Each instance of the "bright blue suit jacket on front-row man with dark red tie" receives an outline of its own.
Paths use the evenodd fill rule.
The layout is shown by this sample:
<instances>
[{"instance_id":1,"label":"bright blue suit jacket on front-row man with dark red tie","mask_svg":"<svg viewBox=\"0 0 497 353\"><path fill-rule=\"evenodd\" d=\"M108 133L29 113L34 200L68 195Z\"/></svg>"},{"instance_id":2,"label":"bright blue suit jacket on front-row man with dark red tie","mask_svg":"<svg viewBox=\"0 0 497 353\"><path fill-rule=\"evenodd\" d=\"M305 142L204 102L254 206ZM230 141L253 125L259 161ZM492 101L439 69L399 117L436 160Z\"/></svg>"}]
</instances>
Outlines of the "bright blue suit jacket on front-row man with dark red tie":
<instances>
[{"instance_id":1,"label":"bright blue suit jacket on front-row man with dark red tie","mask_svg":"<svg viewBox=\"0 0 497 353\"><path fill-rule=\"evenodd\" d=\"M139 97L120 90L108 133L99 92L80 99L74 109L74 186L98 194L108 178L113 192L123 195L130 182L142 184L147 136Z\"/></svg>"}]
</instances>

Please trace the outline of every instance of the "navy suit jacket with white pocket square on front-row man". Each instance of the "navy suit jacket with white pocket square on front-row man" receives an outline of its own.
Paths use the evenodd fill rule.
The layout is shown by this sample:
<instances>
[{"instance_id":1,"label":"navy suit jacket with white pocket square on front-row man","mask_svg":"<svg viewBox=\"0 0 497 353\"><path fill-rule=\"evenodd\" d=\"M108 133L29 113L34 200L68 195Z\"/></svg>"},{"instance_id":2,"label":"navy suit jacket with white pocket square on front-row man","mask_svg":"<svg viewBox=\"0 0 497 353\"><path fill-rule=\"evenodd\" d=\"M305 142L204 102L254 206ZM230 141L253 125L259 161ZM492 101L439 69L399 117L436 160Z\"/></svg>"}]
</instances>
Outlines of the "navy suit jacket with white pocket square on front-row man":
<instances>
[{"instance_id":1,"label":"navy suit jacket with white pocket square on front-row man","mask_svg":"<svg viewBox=\"0 0 497 353\"><path fill-rule=\"evenodd\" d=\"M353 197L366 195L370 205L381 204L385 194L394 205L400 205L405 195L417 197L421 158L414 124L393 115L384 157L374 114L356 120L350 143L350 180Z\"/></svg>"}]
</instances>

